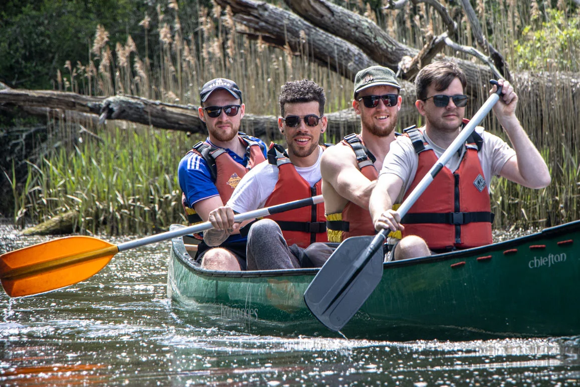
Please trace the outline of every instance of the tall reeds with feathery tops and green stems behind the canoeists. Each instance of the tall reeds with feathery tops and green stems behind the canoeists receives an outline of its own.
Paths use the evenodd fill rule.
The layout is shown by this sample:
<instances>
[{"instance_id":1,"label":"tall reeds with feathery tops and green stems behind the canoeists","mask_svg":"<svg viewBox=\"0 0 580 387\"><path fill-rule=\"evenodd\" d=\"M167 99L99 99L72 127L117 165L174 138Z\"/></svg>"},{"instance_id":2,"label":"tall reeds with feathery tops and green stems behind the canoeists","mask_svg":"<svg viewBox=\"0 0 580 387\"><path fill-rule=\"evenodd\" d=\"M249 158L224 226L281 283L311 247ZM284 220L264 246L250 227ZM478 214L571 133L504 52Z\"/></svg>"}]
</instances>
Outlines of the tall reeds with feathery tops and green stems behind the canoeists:
<instances>
[{"instance_id":1,"label":"tall reeds with feathery tops and green stems behind the canoeists","mask_svg":"<svg viewBox=\"0 0 580 387\"><path fill-rule=\"evenodd\" d=\"M565 9L565 3L560 3L561 17L579 16L577 10ZM113 45L106 28L99 26L88 63L78 62L73 67L67 62L67 71L57 74L55 88L197 105L205 81L226 77L240 85L248 112L276 115L280 86L292 79L309 78L325 89L327 111L350 106L353 83L334 69L316 63L309 56L307 37L305 49L295 55L289 49L271 48L260 39L251 41L236 34L235 29L244 27L234 25L229 9L215 4L212 9L199 6L198 19L182 26L177 2L168 4L165 12L158 6L157 23L146 15L140 24L146 45L158 45L157 55L148 57L148 50L140 55L131 36ZM425 4L384 12L372 10L362 1L347 2L346 6L374 18L401 42L418 48L423 45L422 31L443 32L439 16ZM496 214L495 227L499 228L557 225L580 215L580 167L575 145L580 137L578 90L564 82L554 86L543 77L549 74L549 79L557 83L559 71L578 72L578 47L570 45L568 51L559 52L561 57L543 64L532 66L521 60L522 42L527 38L523 26L541 28L549 17L549 8L548 3L539 5L535 0L530 4L477 2L478 16L487 26L487 39L505 54L510 71L532 70L539 79L546 79L544 90L515 86L520 96L520 121L548 162L553 182L546 189L530 190L494 179L492 211ZM462 13L451 11L460 26L459 43L474 45ZM447 54L453 53L447 50ZM487 92L482 89L467 115L486 98ZM79 142L78 125L102 140L86 138ZM492 115L484 126L507 140ZM185 222L177 164L203 136L190 138L184 133L118 122L94 127L73 119L55 121L52 127L53 150L29 162L26 182L17 185L14 176L6 176L13 186L16 223L22 224L25 218L40 222L69 209L78 211L78 227L88 233L150 233ZM324 140L336 142L339 138L335 137Z\"/></svg>"}]
</instances>

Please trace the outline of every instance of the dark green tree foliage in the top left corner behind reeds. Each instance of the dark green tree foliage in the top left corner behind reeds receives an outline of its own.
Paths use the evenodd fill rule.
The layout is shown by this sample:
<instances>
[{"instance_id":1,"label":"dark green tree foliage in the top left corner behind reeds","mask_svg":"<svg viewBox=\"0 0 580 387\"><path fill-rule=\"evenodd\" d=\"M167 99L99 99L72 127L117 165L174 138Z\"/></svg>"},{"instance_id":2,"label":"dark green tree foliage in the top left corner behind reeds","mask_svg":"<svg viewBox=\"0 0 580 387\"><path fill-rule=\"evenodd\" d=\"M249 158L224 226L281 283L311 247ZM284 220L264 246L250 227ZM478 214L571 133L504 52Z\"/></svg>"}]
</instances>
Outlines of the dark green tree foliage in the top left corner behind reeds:
<instances>
[{"instance_id":1,"label":"dark green tree foliage in the top left corner behind reeds","mask_svg":"<svg viewBox=\"0 0 580 387\"><path fill-rule=\"evenodd\" d=\"M11 87L51 89L66 60L86 60L97 24L112 41L125 41L153 2L135 0L4 0L0 2L0 82ZM74 62L73 62L74 63Z\"/></svg>"}]
</instances>

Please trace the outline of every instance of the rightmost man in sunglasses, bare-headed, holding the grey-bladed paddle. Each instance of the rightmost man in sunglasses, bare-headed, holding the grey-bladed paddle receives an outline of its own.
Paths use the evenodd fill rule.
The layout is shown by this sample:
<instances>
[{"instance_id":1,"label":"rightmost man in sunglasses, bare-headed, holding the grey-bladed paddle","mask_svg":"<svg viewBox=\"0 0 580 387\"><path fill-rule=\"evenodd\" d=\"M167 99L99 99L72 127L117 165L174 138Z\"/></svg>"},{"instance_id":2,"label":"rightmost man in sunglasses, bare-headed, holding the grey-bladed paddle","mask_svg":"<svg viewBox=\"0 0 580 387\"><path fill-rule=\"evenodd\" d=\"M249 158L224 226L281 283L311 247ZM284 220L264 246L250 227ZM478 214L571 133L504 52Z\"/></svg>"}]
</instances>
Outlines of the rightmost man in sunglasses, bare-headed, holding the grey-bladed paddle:
<instances>
[{"instance_id":1,"label":"rightmost man in sunglasses, bare-headed, holding the grey-bladed paddle","mask_svg":"<svg viewBox=\"0 0 580 387\"><path fill-rule=\"evenodd\" d=\"M466 84L465 74L452 62L429 64L415 79L415 106L425 117L425 126L405 131L391 144L370 202L377 230L403 232L403 239L391 251L394 259L492 243L492 176L535 189L550 183L546 163L516 117L518 98L513 86L500 79L503 87L494 113L513 149L498 136L476 128L400 219L391 203L411 193L466 122ZM490 93L495 91L493 86Z\"/></svg>"}]
</instances>

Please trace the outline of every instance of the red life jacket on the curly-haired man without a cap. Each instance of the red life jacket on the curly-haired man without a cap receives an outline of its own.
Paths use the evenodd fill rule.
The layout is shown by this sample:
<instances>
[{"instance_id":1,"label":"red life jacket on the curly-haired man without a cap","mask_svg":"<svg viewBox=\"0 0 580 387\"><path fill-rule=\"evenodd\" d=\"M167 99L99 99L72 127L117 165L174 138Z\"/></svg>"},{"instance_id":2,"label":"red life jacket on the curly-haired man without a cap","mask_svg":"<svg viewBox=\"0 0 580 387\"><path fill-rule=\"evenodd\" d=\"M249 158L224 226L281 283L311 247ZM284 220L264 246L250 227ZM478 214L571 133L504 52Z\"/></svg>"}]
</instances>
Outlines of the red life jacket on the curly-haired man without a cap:
<instances>
[{"instance_id":1,"label":"red life jacket on the curly-haired man without a cap","mask_svg":"<svg viewBox=\"0 0 580 387\"><path fill-rule=\"evenodd\" d=\"M322 179L318 180L314 187L310 187L310 183L296 172L296 168L282 146L270 145L268 162L278 167L278 182L267 198L265 207L322 193ZM296 208L292 211L269 215L266 218L278 223L288 245L297 244L300 247L308 247L314 242L328 242L324 203Z\"/></svg>"}]
</instances>

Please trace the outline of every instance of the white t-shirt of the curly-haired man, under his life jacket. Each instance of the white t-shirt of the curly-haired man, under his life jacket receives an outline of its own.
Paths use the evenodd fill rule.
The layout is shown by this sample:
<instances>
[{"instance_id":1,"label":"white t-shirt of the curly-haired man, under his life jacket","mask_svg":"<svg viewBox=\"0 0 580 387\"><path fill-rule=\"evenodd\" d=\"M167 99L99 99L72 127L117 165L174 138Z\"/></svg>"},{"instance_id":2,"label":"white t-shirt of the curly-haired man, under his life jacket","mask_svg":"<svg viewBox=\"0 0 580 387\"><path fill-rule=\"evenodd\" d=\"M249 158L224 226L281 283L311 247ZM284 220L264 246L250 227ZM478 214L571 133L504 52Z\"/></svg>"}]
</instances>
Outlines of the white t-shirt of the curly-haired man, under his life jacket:
<instances>
[{"instance_id":1,"label":"white t-shirt of the curly-haired man, under his life jacket","mask_svg":"<svg viewBox=\"0 0 580 387\"><path fill-rule=\"evenodd\" d=\"M320 159L322 158L322 148L318 147L318 159L310 167L295 167L296 172L313 187L322 176L320 175ZM234 193L231 194L227 206L234 209L235 212L242 213L263 208L266 200L274 191L278 182L278 167L262 161L250 169L248 173L235 187Z\"/></svg>"}]
</instances>

